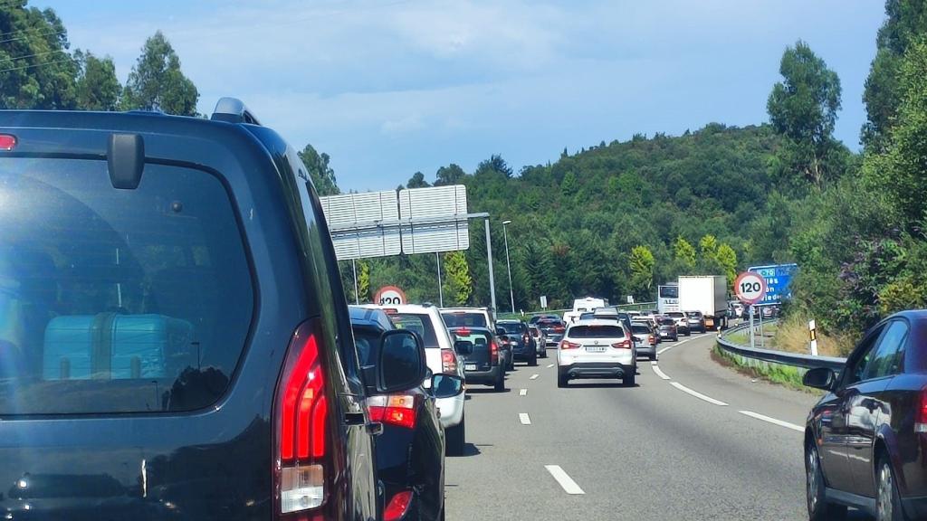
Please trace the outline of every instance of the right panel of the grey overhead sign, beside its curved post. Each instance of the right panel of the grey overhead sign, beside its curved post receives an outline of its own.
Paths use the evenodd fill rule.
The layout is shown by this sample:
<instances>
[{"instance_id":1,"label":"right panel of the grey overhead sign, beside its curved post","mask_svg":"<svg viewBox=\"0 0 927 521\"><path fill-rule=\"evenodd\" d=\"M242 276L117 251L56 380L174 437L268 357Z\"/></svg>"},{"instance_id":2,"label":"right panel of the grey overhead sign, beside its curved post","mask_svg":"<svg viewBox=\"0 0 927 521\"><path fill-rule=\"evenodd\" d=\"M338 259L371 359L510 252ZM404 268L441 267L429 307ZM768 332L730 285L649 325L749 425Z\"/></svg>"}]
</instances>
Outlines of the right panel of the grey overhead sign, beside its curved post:
<instances>
[{"instance_id":1,"label":"right panel of the grey overhead sign, beside its curved post","mask_svg":"<svg viewBox=\"0 0 927 521\"><path fill-rule=\"evenodd\" d=\"M400 190L399 200L403 253L470 248L466 186Z\"/></svg>"}]
</instances>

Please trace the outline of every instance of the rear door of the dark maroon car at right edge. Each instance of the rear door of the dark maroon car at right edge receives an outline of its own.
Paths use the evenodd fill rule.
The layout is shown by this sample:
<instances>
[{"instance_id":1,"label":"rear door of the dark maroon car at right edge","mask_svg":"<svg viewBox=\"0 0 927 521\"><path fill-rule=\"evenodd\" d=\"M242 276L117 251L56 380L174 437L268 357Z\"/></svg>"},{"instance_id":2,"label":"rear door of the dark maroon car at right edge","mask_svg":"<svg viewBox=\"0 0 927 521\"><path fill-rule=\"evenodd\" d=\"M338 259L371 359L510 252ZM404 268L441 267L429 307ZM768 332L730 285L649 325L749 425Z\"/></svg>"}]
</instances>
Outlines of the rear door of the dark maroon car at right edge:
<instances>
[{"instance_id":1,"label":"rear door of the dark maroon car at right edge","mask_svg":"<svg viewBox=\"0 0 927 521\"><path fill-rule=\"evenodd\" d=\"M903 347L908 338L908 323L896 319L884 327L884 333L872 351L862 379L847 388L842 405L846 414L846 457L853 477L853 493L875 497L875 463L872 448L878 426L890 414L885 389L898 374Z\"/></svg>"}]
</instances>

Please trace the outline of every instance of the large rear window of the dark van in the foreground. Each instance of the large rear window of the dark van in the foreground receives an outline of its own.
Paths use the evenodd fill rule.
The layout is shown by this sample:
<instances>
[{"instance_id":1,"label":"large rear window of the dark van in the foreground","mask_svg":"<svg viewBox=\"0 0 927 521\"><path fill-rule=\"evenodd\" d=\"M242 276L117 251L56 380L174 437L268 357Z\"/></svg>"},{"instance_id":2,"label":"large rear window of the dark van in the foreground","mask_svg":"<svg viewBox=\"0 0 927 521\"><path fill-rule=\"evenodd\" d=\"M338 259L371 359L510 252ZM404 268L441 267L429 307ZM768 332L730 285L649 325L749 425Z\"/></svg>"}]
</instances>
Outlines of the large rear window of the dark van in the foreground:
<instances>
[{"instance_id":1,"label":"large rear window of the dark van in the foreground","mask_svg":"<svg viewBox=\"0 0 927 521\"><path fill-rule=\"evenodd\" d=\"M214 175L0 159L0 415L189 411L218 400L254 311Z\"/></svg>"}]
</instances>

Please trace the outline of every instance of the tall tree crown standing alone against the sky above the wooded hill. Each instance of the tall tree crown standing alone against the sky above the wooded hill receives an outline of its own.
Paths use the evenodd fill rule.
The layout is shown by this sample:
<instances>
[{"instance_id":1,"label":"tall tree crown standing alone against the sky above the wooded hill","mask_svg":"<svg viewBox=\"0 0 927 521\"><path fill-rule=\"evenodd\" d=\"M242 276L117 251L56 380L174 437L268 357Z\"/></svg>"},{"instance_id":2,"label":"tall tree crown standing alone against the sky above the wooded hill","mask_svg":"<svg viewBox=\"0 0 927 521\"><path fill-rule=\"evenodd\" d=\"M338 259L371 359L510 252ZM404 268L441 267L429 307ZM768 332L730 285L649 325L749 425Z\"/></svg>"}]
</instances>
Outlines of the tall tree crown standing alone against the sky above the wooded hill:
<instances>
[{"instance_id":1,"label":"tall tree crown standing alone against the sky above the wooded hill","mask_svg":"<svg viewBox=\"0 0 927 521\"><path fill-rule=\"evenodd\" d=\"M840 173L829 172L832 156L841 150L832 135L840 109L840 78L801 40L786 47L779 71L783 81L769 95L769 121L786 137L794 170L819 186Z\"/></svg>"}]
</instances>

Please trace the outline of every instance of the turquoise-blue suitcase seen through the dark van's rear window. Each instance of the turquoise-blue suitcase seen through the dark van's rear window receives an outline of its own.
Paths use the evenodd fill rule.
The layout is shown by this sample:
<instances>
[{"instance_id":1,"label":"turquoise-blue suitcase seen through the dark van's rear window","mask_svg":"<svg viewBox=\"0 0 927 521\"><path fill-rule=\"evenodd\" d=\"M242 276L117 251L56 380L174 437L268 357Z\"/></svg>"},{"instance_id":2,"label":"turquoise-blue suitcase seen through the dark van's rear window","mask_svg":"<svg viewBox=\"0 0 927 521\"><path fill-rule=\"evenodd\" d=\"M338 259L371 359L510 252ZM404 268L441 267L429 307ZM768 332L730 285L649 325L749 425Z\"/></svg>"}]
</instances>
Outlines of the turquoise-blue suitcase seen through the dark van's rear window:
<instances>
[{"instance_id":1,"label":"turquoise-blue suitcase seen through the dark van's rear window","mask_svg":"<svg viewBox=\"0 0 927 521\"><path fill-rule=\"evenodd\" d=\"M193 325L159 314L59 316L45 327L43 378L173 378L197 367Z\"/></svg>"}]
</instances>

